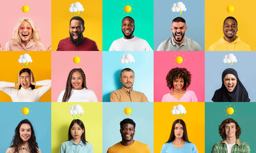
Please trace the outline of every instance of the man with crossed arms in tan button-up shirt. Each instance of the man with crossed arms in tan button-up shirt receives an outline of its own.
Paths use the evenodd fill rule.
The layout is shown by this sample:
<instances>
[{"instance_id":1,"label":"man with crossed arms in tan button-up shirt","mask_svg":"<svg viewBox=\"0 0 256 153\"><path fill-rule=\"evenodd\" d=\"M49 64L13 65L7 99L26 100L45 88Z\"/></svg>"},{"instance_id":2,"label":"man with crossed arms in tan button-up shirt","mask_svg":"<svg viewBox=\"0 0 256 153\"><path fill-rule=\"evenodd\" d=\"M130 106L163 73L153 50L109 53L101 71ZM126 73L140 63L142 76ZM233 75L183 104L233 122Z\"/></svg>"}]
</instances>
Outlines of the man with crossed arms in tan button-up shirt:
<instances>
[{"instance_id":1,"label":"man with crossed arms in tan button-up shirt","mask_svg":"<svg viewBox=\"0 0 256 153\"><path fill-rule=\"evenodd\" d=\"M110 102L148 102L145 94L132 89L134 82L134 71L132 69L125 68L121 71L120 75L120 81L123 87L122 89L111 92Z\"/></svg>"}]
</instances>

